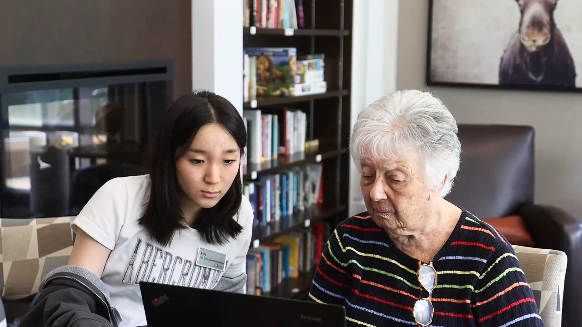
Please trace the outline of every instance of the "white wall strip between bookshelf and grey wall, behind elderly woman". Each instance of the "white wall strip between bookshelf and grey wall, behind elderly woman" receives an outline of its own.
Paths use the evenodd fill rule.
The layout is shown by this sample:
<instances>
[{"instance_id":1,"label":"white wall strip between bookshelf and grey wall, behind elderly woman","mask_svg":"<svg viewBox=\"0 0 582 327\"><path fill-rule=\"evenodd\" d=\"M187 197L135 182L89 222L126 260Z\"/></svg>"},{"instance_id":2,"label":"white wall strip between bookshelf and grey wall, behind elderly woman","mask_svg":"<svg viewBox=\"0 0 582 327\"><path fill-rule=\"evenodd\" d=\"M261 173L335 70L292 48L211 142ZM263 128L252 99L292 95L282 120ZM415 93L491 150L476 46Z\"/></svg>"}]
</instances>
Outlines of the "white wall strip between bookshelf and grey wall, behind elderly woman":
<instances>
[{"instance_id":1,"label":"white wall strip between bookshelf and grey wall, behind elderly woman","mask_svg":"<svg viewBox=\"0 0 582 327\"><path fill-rule=\"evenodd\" d=\"M355 0L350 130L365 106L396 91L398 0ZM349 214L364 211L360 174L350 162Z\"/></svg>"}]
</instances>

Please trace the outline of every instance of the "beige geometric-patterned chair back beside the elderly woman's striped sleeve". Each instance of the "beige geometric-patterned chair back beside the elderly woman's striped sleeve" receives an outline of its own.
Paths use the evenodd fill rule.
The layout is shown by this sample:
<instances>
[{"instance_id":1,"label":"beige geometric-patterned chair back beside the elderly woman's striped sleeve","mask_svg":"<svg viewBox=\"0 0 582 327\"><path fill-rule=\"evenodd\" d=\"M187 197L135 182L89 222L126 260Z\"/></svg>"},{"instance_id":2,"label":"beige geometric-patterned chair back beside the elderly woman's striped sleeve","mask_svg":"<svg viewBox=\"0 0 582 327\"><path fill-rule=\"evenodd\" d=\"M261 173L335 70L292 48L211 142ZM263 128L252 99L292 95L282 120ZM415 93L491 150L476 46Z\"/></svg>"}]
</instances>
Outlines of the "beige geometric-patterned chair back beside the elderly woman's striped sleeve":
<instances>
[{"instance_id":1,"label":"beige geometric-patterned chair back beside the elderly woman's striped sleeve","mask_svg":"<svg viewBox=\"0 0 582 327\"><path fill-rule=\"evenodd\" d=\"M513 246L545 327L562 326L567 256L562 251Z\"/></svg>"}]
</instances>

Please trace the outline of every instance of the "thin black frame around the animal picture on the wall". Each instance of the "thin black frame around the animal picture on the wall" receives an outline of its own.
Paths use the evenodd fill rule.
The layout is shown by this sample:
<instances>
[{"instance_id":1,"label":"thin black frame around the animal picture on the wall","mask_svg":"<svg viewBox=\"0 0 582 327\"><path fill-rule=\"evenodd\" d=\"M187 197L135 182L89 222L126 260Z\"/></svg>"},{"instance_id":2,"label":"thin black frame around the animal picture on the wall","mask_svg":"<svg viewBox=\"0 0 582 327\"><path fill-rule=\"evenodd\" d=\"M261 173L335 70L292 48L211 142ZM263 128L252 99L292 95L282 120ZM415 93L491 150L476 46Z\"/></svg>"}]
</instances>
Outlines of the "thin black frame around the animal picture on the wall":
<instances>
[{"instance_id":1,"label":"thin black frame around the animal picture on the wall","mask_svg":"<svg viewBox=\"0 0 582 327\"><path fill-rule=\"evenodd\" d=\"M438 0L446 1L446 0ZM549 91L549 92L562 92L562 93L582 93L582 86L580 87L562 87L562 86L551 86L551 85L524 85L524 84L485 84L485 83L459 83L459 82L449 82L449 81L435 81L432 80L431 67L432 67L432 26L434 22L434 4L435 0L429 0L428 3L428 33L427 33L427 52L426 52L426 66L425 66L425 84L427 86L441 86L441 87L459 87L459 88L480 88L488 90L517 90L517 91ZM582 67L579 67L582 74Z\"/></svg>"}]
</instances>

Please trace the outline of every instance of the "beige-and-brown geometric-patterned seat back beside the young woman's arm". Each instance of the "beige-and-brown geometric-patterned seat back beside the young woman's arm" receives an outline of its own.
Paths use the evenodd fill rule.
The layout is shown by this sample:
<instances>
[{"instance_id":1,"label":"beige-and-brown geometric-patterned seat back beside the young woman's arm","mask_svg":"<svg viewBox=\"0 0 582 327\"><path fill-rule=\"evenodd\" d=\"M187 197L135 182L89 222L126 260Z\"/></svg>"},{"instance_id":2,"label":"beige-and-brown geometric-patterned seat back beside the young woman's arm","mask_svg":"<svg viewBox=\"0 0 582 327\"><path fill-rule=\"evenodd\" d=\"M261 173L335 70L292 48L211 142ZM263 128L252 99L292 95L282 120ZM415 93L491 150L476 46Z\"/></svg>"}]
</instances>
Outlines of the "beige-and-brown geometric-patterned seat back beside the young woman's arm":
<instances>
[{"instance_id":1,"label":"beige-and-brown geometric-patterned seat back beside the young woman's arm","mask_svg":"<svg viewBox=\"0 0 582 327\"><path fill-rule=\"evenodd\" d=\"M48 272L67 264L73 250L73 219L0 219L2 298L17 300L37 293Z\"/></svg>"}]
</instances>

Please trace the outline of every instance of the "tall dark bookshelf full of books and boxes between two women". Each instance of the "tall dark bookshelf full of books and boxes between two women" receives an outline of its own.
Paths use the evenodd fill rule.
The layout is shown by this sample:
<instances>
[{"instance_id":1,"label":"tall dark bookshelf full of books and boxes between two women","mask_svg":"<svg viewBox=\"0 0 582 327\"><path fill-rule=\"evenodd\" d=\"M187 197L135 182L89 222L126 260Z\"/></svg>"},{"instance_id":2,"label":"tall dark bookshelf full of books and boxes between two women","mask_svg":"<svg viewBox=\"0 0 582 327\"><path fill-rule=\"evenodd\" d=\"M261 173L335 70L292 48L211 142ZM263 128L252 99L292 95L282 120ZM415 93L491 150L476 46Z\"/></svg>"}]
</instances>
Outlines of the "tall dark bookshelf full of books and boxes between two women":
<instances>
[{"instance_id":1,"label":"tall dark bookshelf full of books and boxes between two women","mask_svg":"<svg viewBox=\"0 0 582 327\"><path fill-rule=\"evenodd\" d=\"M347 218L353 0L240 1L243 117L249 133L243 184L255 211L247 293L304 298L329 234ZM267 54L265 48L287 52ZM269 55L272 66L258 68L264 59L259 57ZM323 69L309 76L320 79L303 73L292 81L296 92L289 87L289 92L283 88L286 95L268 94L268 83L279 82L264 73L285 72L284 62L274 64L275 56L294 57L293 79L302 73L301 65L318 60ZM309 83L321 84L321 76L325 90L311 92ZM261 87L267 90L263 95Z\"/></svg>"}]
</instances>

